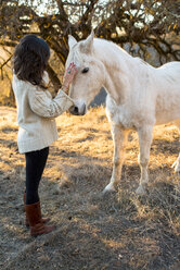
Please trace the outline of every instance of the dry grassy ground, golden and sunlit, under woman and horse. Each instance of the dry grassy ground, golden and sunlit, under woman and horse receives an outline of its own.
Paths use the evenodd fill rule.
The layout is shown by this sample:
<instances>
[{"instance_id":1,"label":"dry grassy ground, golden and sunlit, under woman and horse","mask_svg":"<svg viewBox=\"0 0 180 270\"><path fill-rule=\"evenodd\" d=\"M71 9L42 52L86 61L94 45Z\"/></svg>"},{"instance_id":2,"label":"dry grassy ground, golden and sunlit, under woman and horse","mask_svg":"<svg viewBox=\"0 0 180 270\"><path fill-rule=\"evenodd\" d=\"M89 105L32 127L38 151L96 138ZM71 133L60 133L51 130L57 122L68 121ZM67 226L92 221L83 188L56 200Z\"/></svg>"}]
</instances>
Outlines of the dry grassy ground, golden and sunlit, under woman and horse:
<instances>
[{"instance_id":1,"label":"dry grassy ground, golden and sunlit, under woman and horse","mask_svg":"<svg viewBox=\"0 0 180 270\"><path fill-rule=\"evenodd\" d=\"M146 196L138 197L138 137L127 147L117 193L102 191L112 173L113 142L103 107L57 118L40 184L42 212L56 230L29 236L24 225L24 156L16 145L16 110L0 107L0 269L180 269L180 149L173 125L154 128Z\"/></svg>"}]
</instances>

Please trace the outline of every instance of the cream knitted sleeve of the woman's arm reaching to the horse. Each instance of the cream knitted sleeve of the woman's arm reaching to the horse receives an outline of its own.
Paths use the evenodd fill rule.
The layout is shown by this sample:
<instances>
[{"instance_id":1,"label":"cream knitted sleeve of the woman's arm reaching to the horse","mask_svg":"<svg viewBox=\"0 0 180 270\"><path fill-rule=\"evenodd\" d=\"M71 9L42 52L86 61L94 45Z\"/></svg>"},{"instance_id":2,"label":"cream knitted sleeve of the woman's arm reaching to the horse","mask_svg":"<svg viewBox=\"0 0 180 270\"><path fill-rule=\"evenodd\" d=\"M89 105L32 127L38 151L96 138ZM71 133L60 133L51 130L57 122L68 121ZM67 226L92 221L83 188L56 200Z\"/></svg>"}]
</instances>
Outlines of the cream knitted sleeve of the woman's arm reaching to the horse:
<instances>
[{"instance_id":1,"label":"cream knitted sleeve of the woman's arm reaching to the horse","mask_svg":"<svg viewBox=\"0 0 180 270\"><path fill-rule=\"evenodd\" d=\"M74 101L63 91L60 90L55 98L51 98L44 90L36 88L28 93L30 109L42 118L53 119L68 110Z\"/></svg>"}]
</instances>

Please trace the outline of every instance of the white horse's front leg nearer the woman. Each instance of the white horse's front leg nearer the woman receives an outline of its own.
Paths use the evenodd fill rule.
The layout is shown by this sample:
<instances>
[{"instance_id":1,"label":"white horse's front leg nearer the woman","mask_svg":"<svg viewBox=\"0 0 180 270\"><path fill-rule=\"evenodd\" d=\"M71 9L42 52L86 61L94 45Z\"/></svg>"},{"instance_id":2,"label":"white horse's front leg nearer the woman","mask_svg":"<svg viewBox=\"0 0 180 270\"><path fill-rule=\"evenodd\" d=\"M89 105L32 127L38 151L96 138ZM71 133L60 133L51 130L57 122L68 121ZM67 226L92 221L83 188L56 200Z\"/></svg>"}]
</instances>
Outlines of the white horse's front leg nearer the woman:
<instances>
[{"instance_id":1,"label":"white horse's front leg nearer the woman","mask_svg":"<svg viewBox=\"0 0 180 270\"><path fill-rule=\"evenodd\" d=\"M121 168L125 160L125 147L127 143L128 131L120 128L118 125L113 125L112 135L114 143L113 173L110 184L104 188L103 193L116 191L119 184Z\"/></svg>"}]
</instances>

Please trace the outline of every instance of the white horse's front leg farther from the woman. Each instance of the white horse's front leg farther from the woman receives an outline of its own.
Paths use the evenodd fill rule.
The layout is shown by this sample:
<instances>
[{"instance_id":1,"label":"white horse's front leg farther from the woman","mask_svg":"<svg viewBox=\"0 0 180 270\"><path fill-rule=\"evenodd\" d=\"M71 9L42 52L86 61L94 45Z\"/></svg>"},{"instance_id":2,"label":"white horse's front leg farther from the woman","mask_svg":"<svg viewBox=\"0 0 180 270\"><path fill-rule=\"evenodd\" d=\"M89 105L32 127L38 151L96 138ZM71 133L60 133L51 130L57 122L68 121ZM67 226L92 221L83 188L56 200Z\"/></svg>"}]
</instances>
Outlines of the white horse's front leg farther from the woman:
<instances>
[{"instance_id":1,"label":"white horse's front leg farther from the woman","mask_svg":"<svg viewBox=\"0 0 180 270\"><path fill-rule=\"evenodd\" d=\"M137 194L145 194L145 185L149 182L147 165L150 159L150 148L153 138L153 126L143 126L138 130L139 135L139 163L141 169L140 185L137 188Z\"/></svg>"}]
</instances>

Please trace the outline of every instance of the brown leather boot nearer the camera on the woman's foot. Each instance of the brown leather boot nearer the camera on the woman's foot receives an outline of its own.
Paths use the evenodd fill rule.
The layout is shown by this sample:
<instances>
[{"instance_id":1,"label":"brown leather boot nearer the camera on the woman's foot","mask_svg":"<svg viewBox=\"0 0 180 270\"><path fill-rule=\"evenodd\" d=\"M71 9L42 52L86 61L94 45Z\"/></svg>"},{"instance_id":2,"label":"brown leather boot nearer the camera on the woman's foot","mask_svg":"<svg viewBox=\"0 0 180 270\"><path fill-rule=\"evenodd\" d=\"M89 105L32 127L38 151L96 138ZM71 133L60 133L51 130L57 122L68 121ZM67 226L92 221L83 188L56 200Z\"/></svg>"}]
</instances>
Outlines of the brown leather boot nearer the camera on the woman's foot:
<instances>
[{"instance_id":1,"label":"brown leather boot nearer the camera on the woman's foot","mask_svg":"<svg viewBox=\"0 0 180 270\"><path fill-rule=\"evenodd\" d=\"M30 225L30 235L37 236L44 233L50 233L54 226L47 226L41 222L40 202L25 206L27 219Z\"/></svg>"}]
</instances>

